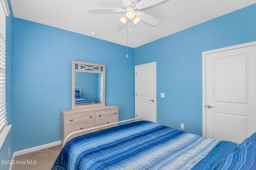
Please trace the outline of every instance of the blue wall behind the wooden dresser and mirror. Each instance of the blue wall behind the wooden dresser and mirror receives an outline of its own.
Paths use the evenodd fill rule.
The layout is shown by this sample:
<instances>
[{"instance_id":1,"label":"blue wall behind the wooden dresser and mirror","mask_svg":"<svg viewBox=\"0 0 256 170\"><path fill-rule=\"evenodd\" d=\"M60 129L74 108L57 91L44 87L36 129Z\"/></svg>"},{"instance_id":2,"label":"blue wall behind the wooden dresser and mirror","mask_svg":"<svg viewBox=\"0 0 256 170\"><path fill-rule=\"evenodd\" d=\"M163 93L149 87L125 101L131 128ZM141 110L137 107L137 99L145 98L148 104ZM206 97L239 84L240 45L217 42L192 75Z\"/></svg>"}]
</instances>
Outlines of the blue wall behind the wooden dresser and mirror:
<instances>
[{"instance_id":1,"label":"blue wall behind the wooden dresser and mirror","mask_svg":"<svg viewBox=\"0 0 256 170\"><path fill-rule=\"evenodd\" d=\"M106 64L106 104L119 106L119 120L134 117L134 49L126 58L122 45L18 18L14 37L15 151L60 141L71 60Z\"/></svg>"}]
</instances>

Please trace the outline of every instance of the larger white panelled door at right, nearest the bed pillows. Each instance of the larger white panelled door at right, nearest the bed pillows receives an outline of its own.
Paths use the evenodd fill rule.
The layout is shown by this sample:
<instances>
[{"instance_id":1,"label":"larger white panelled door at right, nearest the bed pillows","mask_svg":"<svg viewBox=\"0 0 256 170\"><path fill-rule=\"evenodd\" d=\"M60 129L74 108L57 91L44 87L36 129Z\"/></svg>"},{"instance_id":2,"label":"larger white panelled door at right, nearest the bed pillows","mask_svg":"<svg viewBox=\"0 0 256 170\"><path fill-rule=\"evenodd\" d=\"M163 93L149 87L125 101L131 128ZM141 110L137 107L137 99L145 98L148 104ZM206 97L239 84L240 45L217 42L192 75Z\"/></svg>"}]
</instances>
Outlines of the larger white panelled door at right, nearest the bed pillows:
<instances>
[{"instance_id":1,"label":"larger white panelled door at right, nearest the bed pillows","mask_svg":"<svg viewBox=\"0 0 256 170\"><path fill-rule=\"evenodd\" d=\"M205 57L206 137L242 143L256 131L256 45Z\"/></svg>"}]
</instances>

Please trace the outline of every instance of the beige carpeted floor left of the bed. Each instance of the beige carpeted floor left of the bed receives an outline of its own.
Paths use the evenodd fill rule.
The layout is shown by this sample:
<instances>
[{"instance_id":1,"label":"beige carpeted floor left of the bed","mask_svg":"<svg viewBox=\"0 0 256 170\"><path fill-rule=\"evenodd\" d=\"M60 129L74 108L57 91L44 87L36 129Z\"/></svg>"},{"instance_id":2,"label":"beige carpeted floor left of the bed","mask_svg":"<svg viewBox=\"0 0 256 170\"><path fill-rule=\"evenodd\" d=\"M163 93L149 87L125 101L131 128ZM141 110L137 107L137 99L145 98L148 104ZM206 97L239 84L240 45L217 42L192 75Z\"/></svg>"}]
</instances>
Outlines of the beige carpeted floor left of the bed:
<instances>
[{"instance_id":1,"label":"beige carpeted floor left of the bed","mask_svg":"<svg viewBox=\"0 0 256 170\"><path fill-rule=\"evenodd\" d=\"M12 170L50 170L61 149L62 145L57 145L15 156Z\"/></svg>"}]
</instances>

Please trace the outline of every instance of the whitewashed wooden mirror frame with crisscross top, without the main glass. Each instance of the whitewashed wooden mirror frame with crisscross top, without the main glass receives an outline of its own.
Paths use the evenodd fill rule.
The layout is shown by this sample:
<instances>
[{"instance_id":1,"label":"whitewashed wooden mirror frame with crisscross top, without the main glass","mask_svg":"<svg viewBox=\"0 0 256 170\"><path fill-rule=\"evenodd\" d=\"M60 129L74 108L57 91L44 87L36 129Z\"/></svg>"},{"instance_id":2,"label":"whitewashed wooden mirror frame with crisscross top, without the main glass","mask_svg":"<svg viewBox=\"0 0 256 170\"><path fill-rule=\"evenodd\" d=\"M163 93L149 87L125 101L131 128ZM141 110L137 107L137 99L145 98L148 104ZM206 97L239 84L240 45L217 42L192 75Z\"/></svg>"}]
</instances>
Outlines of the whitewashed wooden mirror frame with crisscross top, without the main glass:
<instances>
[{"instance_id":1,"label":"whitewashed wooden mirror frame with crisscross top, without the main glass","mask_svg":"<svg viewBox=\"0 0 256 170\"><path fill-rule=\"evenodd\" d=\"M71 86L71 108L87 108L96 106L105 106L105 76L106 76L106 64L88 63L83 61L71 61L72 62L72 86ZM78 69L76 69L76 64L78 64ZM81 66L83 68L81 68ZM95 69L97 68L97 69ZM75 82L76 82L76 72L91 72L102 74L102 93L100 94L101 103L97 104L82 104L75 105Z\"/></svg>"}]
</instances>

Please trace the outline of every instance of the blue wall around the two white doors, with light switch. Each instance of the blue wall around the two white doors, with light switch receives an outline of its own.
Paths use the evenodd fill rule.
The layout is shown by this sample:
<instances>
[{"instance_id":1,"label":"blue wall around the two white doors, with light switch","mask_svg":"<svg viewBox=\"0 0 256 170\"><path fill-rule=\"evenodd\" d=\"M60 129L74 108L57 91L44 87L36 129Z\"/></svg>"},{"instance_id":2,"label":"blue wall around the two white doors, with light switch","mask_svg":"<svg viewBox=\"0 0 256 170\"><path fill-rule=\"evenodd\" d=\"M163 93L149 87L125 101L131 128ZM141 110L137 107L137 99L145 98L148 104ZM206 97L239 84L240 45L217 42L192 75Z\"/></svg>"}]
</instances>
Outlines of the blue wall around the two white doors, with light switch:
<instances>
[{"instance_id":1,"label":"blue wall around the two white doors, with light switch","mask_svg":"<svg viewBox=\"0 0 256 170\"><path fill-rule=\"evenodd\" d=\"M134 50L135 65L156 61L158 123L202 135L202 52L256 41L255 16L256 4Z\"/></svg>"}]
</instances>

